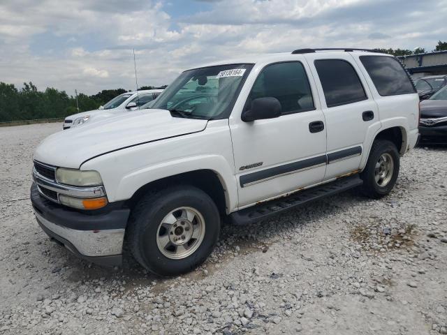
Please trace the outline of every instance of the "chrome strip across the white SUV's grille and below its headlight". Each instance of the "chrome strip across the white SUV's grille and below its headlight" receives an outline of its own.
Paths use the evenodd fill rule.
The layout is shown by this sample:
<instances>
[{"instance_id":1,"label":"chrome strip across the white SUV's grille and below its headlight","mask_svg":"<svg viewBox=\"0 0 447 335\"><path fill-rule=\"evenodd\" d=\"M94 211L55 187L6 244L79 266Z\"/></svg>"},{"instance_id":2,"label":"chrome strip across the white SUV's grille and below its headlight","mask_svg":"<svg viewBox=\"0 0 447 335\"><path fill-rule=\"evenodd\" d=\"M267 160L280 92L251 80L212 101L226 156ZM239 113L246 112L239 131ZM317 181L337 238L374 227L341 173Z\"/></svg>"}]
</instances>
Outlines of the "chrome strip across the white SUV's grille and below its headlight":
<instances>
[{"instance_id":1,"label":"chrome strip across the white SUV's grille and below its headlight","mask_svg":"<svg viewBox=\"0 0 447 335\"><path fill-rule=\"evenodd\" d=\"M58 184L55 181L50 181L49 179L44 179L40 174L35 174L33 171L33 179L36 181L38 186L48 188L51 191L57 192L58 194L64 194L75 198L98 198L105 195L104 186L89 186L89 187L76 187ZM39 191L43 194L41 191ZM48 197L46 197L48 198ZM54 201L54 199L50 200Z\"/></svg>"}]
</instances>

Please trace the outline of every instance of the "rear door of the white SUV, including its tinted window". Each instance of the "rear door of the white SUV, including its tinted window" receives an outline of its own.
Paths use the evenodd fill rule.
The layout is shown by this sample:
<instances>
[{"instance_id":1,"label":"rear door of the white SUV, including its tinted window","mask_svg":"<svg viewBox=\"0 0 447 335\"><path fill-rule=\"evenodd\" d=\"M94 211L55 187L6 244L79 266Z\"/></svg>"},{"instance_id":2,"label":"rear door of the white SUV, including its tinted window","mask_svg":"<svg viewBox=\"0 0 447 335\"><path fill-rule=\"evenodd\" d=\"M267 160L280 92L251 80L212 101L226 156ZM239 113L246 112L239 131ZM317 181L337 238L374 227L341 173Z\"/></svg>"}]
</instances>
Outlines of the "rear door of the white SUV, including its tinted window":
<instances>
[{"instance_id":1,"label":"rear door of the white SUV, including its tinted window","mask_svg":"<svg viewBox=\"0 0 447 335\"><path fill-rule=\"evenodd\" d=\"M348 52L306 54L327 126L328 166L324 179L360 168L367 133L380 128L376 102ZM366 150L367 154L367 150Z\"/></svg>"}]
</instances>

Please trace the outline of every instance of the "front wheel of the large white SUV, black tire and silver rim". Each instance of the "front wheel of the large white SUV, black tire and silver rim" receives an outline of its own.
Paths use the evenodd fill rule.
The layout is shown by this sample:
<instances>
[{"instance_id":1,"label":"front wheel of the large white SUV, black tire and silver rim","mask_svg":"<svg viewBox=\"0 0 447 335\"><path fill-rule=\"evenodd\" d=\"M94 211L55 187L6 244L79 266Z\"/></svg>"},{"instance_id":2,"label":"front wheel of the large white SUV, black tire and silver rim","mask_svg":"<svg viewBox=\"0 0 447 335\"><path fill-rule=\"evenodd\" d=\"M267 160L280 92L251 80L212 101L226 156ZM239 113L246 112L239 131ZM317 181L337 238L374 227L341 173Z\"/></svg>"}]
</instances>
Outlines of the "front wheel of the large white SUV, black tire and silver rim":
<instances>
[{"instance_id":1,"label":"front wheel of the large white SUV, black tire and silver rim","mask_svg":"<svg viewBox=\"0 0 447 335\"><path fill-rule=\"evenodd\" d=\"M142 267L159 276L176 276L208 258L220 226L219 210L207 193L193 186L175 186L138 202L127 240Z\"/></svg>"}]
</instances>

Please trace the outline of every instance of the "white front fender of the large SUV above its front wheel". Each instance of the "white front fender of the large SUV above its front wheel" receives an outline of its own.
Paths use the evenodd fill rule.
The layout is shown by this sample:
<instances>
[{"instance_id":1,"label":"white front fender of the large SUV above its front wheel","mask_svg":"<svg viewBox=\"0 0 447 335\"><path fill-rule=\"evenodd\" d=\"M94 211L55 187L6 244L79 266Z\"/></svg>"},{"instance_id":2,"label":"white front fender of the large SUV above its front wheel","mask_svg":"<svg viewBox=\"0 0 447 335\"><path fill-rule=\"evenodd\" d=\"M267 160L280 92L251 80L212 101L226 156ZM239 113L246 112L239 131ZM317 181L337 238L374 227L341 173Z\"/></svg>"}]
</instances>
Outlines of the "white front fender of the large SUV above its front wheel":
<instances>
[{"instance_id":1,"label":"white front fender of the large SUV above its front wheel","mask_svg":"<svg viewBox=\"0 0 447 335\"><path fill-rule=\"evenodd\" d=\"M210 121L206 130L136 145L92 158L81 170L101 174L110 202L128 200L152 181L196 170L212 170L226 191L226 207L237 207L233 147L227 120Z\"/></svg>"}]
</instances>

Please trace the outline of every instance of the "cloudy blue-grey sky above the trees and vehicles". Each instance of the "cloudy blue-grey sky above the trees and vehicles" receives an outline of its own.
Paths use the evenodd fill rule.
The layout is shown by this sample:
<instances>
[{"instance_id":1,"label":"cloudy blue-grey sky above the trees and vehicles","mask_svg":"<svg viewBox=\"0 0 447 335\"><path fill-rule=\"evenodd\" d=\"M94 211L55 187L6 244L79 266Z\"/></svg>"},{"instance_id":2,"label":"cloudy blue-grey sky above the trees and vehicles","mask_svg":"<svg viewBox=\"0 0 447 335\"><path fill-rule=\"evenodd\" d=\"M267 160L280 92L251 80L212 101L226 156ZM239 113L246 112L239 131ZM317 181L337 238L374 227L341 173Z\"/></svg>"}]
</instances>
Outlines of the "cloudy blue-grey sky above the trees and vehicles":
<instances>
[{"instance_id":1,"label":"cloudy blue-grey sky above the trees and vehicles","mask_svg":"<svg viewBox=\"0 0 447 335\"><path fill-rule=\"evenodd\" d=\"M96 94L304 47L434 49L447 0L1 0L0 82Z\"/></svg>"}]
</instances>

